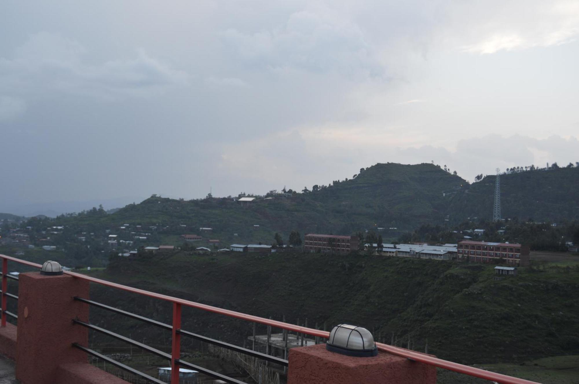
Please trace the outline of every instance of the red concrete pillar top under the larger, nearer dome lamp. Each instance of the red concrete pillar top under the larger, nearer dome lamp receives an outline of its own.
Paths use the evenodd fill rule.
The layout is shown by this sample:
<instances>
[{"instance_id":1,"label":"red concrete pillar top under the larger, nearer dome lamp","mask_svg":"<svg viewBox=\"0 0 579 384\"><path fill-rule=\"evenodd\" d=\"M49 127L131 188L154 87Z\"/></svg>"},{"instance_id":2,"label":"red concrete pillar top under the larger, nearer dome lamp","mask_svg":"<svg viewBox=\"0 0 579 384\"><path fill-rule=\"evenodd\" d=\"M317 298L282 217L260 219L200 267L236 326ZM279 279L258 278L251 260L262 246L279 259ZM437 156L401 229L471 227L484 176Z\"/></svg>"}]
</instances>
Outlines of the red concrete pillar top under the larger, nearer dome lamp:
<instances>
[{"instance_id":1,"label":"red concrete pillar top under the larger, nearer dome lamp","mask_svg":"<svg viewBox=\"0 0 579 384\"><path fill-rule=\"evenodd\" d=\"M329 352L325 344L290 349L288 384L435 384L436 368L380 352L352 357Z\"/></svg>"}]
</instances>

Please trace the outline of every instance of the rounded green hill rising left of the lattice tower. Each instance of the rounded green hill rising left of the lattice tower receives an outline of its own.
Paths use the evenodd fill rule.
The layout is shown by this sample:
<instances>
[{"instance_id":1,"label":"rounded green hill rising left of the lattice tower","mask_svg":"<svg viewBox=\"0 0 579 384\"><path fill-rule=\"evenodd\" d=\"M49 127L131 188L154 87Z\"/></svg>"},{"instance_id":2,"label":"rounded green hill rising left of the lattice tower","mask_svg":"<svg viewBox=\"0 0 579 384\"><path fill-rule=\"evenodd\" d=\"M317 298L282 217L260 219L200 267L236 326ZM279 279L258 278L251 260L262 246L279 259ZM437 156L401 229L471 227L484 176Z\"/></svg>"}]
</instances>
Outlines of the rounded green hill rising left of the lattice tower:
<instances>
[{"instance_id":1,"label":"rounded green hill rising left of the lattice tower","mask_svg":"<svg viewBox=\"0 0 579 384\"><path fill-rule=\"evenodd\" d=\"M245 242L270 241L274 232L291 230L350 234L373 227L412 229L441 221L448 202L445 191L466 182L431 164L376 164L356 178L291 197L259 199L249 205L228 198L174 200L151 197L127 205L112 215L59 218L78 226L123 223L170 227L174 234L214 228L215 236ZM188 229L179 229L179 225ZM259 226L259 227L255 227ZM397 231L391 237L396 237Z\"/></svg>"}]
</instances>

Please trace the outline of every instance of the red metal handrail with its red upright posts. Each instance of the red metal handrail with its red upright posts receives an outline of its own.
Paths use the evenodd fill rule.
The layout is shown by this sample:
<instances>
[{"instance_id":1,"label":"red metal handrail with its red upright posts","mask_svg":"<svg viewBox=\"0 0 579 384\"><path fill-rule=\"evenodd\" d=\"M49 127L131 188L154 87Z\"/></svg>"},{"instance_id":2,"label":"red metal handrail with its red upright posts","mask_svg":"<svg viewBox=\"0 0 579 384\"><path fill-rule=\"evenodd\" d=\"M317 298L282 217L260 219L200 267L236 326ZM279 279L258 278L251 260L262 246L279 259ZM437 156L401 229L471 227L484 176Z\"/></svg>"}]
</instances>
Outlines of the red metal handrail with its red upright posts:
<instances>
[{"instance_id":1,"label":"red metal handrail with its red upright posts","mask_svg":"<svg viewBox=\"0 0 579 384\"><path fill-rule=\"evenodd\" d=\"M30 261L25 261L21 259L17 259L16 257L5 256L0 254L0 258L2 258L2 326L6 324L6 315L5 315L5 308L6 308L6 286L8 285L7 282L7 274L8 274L8 260L15 261L16 263L28 265L30 267L41 268L41 264L31 263ZM314 328L307 328L298 326L295 324L288 324L284 322L279 322L277 320L266 319L265 317L247 315L245 313L230 311L229 309L223 309L218 307L212 307L211 305L201 304L195 301L183 300L181 298L167 296L164 294L159 294L151 291L146 291L143 289L133 288L126 285L118 284L109 282L107 280L101 280L97 278L93 278L91 276L78 274L76 272L65 271L67 275L74 276L75 278L88 280L89 282L97 283L100 285L124 290L127 292L137 293L144 296L157 298L160 300L165 300L168 302L173 303L173 341L172 341L172 348L171 348L171 383L178 384L179 383L179 355L180 355L180 334L177 332L179 328L181 328L181 307L185 305L186 307L203 309L203 311L219 313L221 315L236 317L237 319L243 319L250 322L261 323L267 326L272 326L276 328L282 328L288 331L299 332L311 336L318 336L323 338L329 337L329 332L323 330L317 330ZM485 371L480 368L469 367L468 365L453 363L452 361L438 359L437 357L424 355L423 353L413 352L412 350L398 348L395 346L376 343L376 346L379 350L383 352L392 353L393 355L406 357L408 359L418 361L420 363L434 365L435 367L444 368L445 370L459 372L461 374L466 374L470 376L475 376L478 378L496 381L501 384L540 384L534 381L529 381L525 379L519 379L512 376L507 376L503 374L497 374L495 372Z\"/></svg>"}]
</instances>

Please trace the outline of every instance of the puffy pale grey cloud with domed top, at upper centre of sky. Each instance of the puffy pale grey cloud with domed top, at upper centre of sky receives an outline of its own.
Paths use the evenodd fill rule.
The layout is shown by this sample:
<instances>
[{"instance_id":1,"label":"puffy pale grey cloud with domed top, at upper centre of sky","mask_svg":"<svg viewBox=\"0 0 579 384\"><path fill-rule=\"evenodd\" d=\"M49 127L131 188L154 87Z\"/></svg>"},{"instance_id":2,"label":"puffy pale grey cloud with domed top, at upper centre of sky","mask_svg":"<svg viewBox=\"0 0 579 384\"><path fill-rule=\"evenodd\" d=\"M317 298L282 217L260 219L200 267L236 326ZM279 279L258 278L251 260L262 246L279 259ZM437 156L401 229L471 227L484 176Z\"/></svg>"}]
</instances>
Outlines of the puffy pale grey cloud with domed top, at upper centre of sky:
<instances>
[{"instance_id":1,"label":"puffy pale grey cloud with domed top, at upper centre of sky","mask_svg":"<svg viewBox=\"0 0 579 384\"><path fill-rule=\"evenodd\" d=\"M383 72L361 28L328 8L291 13L275 28L258 32L229 28L221 36L241 60L258 69L290 67L372 76Z\"/></svg>"}]
</instances>

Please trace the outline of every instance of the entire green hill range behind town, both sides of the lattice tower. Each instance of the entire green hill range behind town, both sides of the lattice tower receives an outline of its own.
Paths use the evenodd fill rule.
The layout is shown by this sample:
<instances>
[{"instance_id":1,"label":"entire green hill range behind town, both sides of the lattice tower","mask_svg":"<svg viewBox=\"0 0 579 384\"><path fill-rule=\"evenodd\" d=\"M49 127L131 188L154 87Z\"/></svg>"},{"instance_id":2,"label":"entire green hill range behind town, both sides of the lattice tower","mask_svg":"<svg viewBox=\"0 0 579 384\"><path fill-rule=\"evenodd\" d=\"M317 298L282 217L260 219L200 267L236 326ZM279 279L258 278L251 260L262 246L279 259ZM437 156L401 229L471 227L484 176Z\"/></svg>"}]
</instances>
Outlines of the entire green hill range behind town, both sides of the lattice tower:
<instances>
[{"instance_id":1,"label":"entire green hill range behind town, both sides of the lattice tower","mask_svg":"<svg viewBox=\"0 0 579 384\"><path fill-rule=\"evenodd\" d=\"M292 230L351 234L377 227L385 228L384 239L393 239L401 231L442 224L447 218L450 224L469 217L491 219L494 179L486 176L469 184L432 164L376 164L354 179L291 197L258 197L248 205L233 198L184 201L153 196L111 215L67 219L80 226L167 227L164 232L173 235L211 227L212 237L225 241L270 242L274 232L284 237ZM501 200L503 217L579 219L579 168L501 175Z\"/></svg>"}]
</instances>

